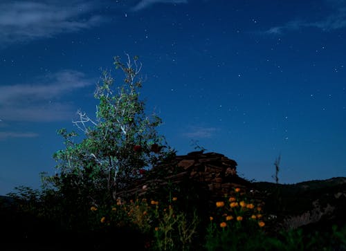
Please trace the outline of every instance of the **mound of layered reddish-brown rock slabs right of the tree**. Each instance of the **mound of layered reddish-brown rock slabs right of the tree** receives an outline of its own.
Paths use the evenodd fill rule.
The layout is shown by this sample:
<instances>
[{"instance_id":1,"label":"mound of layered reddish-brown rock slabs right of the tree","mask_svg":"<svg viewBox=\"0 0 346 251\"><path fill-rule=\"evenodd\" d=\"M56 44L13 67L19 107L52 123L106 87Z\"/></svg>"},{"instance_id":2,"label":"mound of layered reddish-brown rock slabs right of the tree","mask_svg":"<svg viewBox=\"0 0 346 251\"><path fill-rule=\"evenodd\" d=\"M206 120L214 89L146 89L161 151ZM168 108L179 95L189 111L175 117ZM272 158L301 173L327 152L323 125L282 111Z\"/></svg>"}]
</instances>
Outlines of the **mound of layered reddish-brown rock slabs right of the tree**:
<instances>
[{"instance_id":1,"label":"mound of layered reddish-brown rock slabs right of the tree","mask_svg":"<svg viewBox=\"0 0 346 251\"><path fill-rule=\"evenodd\" d=\"M172 160L153 167L147 174L117 197L145 196L172 184L188 184L208 200L215 201L225 194L233 194L235 187L255 191L251 183L237 175L237 162L215 152L192 151L187 155L175 156ZM196 194L197 195L197 194ZM199 194L201 196L201 194Z\"/></svg>"}]
</instances>

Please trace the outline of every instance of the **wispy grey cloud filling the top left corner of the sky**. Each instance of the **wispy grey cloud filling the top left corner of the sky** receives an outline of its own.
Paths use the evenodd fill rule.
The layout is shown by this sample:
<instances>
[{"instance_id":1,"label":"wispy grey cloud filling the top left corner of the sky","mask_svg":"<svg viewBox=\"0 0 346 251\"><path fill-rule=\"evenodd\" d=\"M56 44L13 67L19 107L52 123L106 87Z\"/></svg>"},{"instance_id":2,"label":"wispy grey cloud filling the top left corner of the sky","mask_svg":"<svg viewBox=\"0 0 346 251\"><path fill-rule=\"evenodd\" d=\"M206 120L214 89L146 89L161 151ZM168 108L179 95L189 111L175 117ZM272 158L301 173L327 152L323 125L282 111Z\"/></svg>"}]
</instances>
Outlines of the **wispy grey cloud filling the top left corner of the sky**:
<instances>
[{"instance_id":1,"label":"wispy grey cloud filling the top left corner of the sky","mask_svg":"<svg viewBox=\"0 0 346 251\"><path fill-rule=\"evenodd\" d=\"M0 44L27 42L100 24L87 1L11 1L0 3Z\"/></svg>"}]
</instances>

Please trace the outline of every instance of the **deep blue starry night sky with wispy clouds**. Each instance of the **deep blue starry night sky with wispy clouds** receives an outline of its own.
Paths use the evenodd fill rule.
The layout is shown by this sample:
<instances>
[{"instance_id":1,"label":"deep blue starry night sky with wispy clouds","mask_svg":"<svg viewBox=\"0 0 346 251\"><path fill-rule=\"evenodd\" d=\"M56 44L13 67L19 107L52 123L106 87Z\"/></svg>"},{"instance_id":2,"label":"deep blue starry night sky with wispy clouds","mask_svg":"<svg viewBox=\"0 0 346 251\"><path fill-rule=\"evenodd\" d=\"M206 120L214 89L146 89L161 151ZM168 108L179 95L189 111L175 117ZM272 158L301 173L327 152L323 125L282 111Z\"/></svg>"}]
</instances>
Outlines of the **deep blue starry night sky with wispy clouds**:
<instances>
[{"instance_id":1,"label":"deep blue starry night sky with wispy clouds","mask_svg":"<svg viewBox=\"0 0 346 251\"><path fill-rule=\"evenodd\" d=\"M54 174L57 129L93 118L125 53L177 154L198 140L248 179L273 182L280 154L280 183L346 176L345 44L340 0L2 0L0 194Z\"/></svg>"}]
</instances>

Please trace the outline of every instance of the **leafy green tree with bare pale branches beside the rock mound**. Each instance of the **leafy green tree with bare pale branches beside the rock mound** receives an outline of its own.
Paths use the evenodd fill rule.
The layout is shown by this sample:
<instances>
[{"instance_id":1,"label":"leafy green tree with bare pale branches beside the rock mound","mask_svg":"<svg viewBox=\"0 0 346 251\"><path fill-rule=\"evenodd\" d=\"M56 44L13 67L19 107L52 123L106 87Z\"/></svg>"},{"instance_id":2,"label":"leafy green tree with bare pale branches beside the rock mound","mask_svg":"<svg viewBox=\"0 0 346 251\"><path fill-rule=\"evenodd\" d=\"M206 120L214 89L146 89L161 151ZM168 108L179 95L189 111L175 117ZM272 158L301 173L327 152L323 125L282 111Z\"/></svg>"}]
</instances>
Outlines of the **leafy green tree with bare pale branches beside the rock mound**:
<instances>
[{"instance_id":1,"label":"leafy green tree with bare pale branches beside the rock mound","mask_svg":"<svg viewBox=\"0 0 346 251\"><path fill-rule=\"evenodd\" d=\"M125 73L118 93L111 89L113 77L103 71L102 84L98 84L94 93L100 100L95 121L78 111L80 118L73 122L86 138L76 143L75 131L67 133L66 129L60 129L58 133L64 137L66 149L53 155L58 162L58 174L43 176L45 187L53 186L63 195L82 194L93 204L100 199L116 199L118 191L176 152L156 131L161 118L154 113L151 118L145 115L145 103L139 99L143 80L138 77L142 68L138 57L131 60L127 55L125 64L120 57L114 57L114 64Z\"/></svg>"}]
</instances>

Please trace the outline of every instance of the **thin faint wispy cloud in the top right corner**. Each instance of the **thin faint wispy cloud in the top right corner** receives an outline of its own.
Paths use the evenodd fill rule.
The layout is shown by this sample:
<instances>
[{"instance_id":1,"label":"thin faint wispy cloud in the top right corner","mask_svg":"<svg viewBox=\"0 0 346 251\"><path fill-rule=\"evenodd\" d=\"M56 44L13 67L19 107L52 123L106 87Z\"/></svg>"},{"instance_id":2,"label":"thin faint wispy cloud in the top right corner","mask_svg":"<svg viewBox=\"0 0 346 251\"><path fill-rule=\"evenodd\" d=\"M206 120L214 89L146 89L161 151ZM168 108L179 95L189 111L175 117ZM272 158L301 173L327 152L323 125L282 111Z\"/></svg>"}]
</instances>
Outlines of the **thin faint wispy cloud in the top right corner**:
<instances>
[{"instance_id":1,"label":"thin faint wispy cloud in the top right corner","mask_svg":"<svg viewBox=\"0 0 346 251\"><path fill-rule=\"evenodd\" d=\"M289 21L282 26L275 26L265 31L267 34L282 34L291 30L299 30L301 28L318 28L323 31L337 30L346 28L346 1L327 1L331 4L333 13L325 18L317 21L304 21L296 19ZM333 4L332 4L333 3Z\"/></svg>"}]
</instances>

